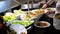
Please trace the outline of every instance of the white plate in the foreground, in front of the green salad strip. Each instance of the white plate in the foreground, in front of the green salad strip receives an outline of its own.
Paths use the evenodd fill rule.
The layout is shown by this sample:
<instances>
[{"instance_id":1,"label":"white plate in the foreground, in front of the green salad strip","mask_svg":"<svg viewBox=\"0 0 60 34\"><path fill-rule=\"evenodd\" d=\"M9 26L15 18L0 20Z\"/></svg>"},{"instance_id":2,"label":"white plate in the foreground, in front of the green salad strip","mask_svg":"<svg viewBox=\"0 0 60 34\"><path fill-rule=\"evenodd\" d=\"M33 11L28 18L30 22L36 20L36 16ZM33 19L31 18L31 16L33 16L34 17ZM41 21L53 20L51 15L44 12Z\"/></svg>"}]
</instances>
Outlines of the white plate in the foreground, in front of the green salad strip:
<instances>
[{"instance_id":1,"label":"white plate in the foreground, in front of the green salad strip","mask_svg":"<svg viewBox=\"0 0 60 34\"><path fill-rule=\"evenodd\" d=\"M21 34L21 32L25 32L27 34L26 28L20 24L11 25L10 29L13 29L15 32L17 32L16 34Z\"/></svg>"}]
</instances>

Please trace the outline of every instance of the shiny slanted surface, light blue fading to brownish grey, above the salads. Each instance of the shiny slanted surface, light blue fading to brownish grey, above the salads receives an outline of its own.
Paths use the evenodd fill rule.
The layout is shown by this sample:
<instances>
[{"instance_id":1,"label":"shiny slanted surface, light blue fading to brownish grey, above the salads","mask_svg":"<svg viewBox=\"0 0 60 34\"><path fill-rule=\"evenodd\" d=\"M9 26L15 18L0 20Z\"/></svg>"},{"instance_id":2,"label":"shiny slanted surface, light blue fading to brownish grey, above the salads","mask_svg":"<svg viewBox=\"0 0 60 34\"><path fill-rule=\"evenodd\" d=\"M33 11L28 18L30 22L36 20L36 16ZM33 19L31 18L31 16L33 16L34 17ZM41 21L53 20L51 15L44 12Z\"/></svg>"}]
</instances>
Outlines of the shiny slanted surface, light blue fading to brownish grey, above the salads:
<instances>
[{"instance_id":1,"label":"shiny slanted surface, light blue fading to brownish grey, above the salads","mask_svg":"<svg viewBox=\"0 0 60 34\"><path fill-rule=\"evenodd\" d=\"M5 12L8 9L14 8L19 6L19 3L13 1L13 0L2 0L0 1L0 13Z\"/></svg>"}]
</instances>

